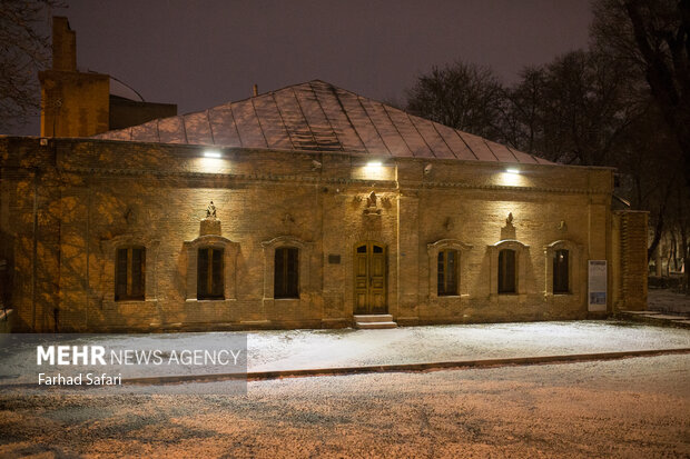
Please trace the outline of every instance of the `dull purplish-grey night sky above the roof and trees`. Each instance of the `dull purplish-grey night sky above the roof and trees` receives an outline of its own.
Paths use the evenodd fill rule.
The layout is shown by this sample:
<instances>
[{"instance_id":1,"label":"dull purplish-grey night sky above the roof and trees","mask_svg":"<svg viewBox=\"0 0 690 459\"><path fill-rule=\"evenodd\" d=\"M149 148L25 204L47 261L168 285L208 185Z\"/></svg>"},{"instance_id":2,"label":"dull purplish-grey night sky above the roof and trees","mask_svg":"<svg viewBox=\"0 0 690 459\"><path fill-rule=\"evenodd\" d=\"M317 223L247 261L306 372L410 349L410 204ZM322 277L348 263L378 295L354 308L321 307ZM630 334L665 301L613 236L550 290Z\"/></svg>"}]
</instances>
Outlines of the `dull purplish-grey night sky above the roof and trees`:
<instances>
[{"instance_id":1,"label":"dull purplish-grey night sky above the roof and trees","mask_svg":"<svg viewBox=\"0 0 690 459\"><path fill-rule=\"evenodd\" d=\"M77 64L185 113L322 79L404 101L415 76L456 59L511 83L586 47L588 0L68 0ZM38 122L26 133L38 133Z\"/></svg>"}]
</instances>

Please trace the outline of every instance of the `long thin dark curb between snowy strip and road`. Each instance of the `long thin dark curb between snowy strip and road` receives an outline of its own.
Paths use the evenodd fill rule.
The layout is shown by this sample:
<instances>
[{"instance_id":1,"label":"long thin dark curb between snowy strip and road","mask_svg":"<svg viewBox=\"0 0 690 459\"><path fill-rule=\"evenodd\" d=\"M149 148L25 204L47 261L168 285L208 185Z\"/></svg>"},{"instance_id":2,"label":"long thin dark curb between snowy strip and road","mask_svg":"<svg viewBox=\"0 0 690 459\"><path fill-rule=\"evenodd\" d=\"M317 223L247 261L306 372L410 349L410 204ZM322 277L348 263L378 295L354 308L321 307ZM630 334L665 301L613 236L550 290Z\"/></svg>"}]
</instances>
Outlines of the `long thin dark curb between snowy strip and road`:
<instances>
[{"instance_id":1,"label":"long thin dark curb between snowy strip and road","mask_svg":"<svg viewBox=\"0 0 690 459\"><path fill-rule=\"evenodd\" d=\"M632 357L655 357L674 353L690 353L690 348L637 350L601 353L571 353L565 356L512 357L504 359L459 360L427 363L396 363L359 367L315 368L303 370L248 371L246 373L184 375L151 378L124 379L122 385L169 385L184 382L213 382L225 380L264 381L282 378L305 378L316 376L346 376L386 372L424 372L438 370L460 370L469 368L496 368L510 366L531 366L544 363L576 363L597 360L619 360Z\"/></svg>"}]
</instances>

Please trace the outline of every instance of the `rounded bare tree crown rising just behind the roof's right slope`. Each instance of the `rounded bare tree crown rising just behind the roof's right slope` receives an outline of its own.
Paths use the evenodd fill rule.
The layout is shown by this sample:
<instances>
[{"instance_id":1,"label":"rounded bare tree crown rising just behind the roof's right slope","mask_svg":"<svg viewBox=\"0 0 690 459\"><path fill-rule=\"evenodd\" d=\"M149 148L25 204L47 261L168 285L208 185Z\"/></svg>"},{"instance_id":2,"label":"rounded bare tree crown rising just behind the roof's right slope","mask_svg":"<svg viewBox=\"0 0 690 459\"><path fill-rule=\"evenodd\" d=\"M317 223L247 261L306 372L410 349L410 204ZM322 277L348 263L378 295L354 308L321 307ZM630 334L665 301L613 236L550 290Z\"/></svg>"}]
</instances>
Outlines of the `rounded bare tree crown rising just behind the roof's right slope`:
<instances>
[{"instance_id":1,"label":"rounded bare tree crown rising just behind the roof's right slope","mask_svg":"<svg viewBox=\"0 0 690 459\"><path fill-rule=\"evenodd\" d=\"M489 68L457 61L433 67L407 91L407 110L455 129L497 139L504 92Z\"/></svg>"}]
</instances>

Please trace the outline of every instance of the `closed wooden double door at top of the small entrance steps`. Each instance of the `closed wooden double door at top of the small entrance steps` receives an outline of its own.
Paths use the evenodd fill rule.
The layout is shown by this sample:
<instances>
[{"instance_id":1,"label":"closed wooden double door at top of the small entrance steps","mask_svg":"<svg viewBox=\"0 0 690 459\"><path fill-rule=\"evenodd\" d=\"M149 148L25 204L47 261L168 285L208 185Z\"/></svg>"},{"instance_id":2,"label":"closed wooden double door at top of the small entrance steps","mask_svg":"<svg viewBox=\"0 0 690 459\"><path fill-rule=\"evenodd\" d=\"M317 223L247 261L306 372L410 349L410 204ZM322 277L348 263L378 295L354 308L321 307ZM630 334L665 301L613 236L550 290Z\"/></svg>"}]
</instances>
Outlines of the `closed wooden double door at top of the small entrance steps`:
<instances>
[{"instance_id":1,"label":"closed wooden double door at top of the small entrance steps","mask_svg":"<svg viewBox=\"0 0 690 459\"><path fill-rule=\"evenodd\" d=\"M386 313L386 249L376 242L355 247L355 313Z\"/></svg>"}]
</instances>

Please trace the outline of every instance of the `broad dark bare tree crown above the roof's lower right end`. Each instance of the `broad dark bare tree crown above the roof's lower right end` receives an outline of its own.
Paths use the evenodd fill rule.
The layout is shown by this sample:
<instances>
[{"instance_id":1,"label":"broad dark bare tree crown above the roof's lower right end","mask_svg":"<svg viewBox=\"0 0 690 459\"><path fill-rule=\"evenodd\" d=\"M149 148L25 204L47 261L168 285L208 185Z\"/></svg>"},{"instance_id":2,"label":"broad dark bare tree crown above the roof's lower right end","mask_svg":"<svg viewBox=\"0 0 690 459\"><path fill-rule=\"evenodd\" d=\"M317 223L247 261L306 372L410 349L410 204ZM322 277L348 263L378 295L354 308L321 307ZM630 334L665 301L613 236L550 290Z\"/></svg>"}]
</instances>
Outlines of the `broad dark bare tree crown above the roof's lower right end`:
<instances>
[{"instance_id":1,"label":"broad dark bare tree crown above the roof's lower right end","mask_svg":"<svg viewBox=\"0 0 690 459\"><path fill-rule=\"evenodd\" d=\"M516 148L552 161L613 166L614 150L639 114L625 66L573 51L528 68L507 91L505 122Z\"/></svg>"}]
</instances>

